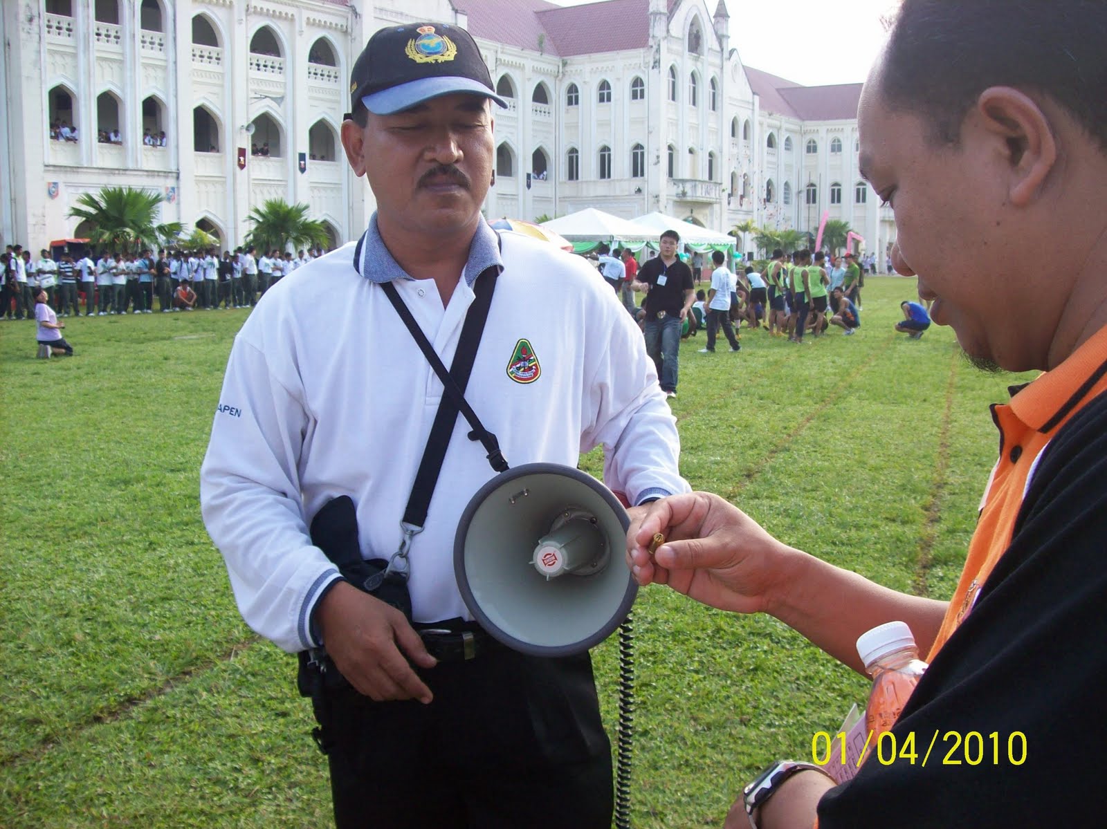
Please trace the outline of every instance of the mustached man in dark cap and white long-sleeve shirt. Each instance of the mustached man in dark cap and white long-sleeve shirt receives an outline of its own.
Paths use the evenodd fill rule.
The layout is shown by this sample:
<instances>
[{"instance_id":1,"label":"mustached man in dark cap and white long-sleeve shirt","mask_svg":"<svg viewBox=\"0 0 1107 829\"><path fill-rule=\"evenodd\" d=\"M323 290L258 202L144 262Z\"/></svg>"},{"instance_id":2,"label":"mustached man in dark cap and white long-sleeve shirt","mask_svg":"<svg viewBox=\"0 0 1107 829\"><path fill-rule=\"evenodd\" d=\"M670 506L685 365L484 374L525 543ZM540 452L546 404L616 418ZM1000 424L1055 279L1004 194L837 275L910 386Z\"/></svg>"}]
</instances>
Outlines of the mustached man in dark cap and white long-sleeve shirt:
<instances>
[{"instance_id":1,"label":"mustached man in dark cap and white long-sleeve shirt","mask_svg":"<svg viewBox=\"0 0 1107 829\"><path fill-rule=\"evenodd\" d=\"M469 34L383 29L351 81L342 144L376 213L356 245L273 286L239 332L201 472L205 521L247 622L310 653L301 688L340 827L608 829L610 746L588 655L508 650L461 598L454 535L494 473L412 327L462 377L463 330L494 289L458 384L515 466L575 467L603 445L606 483L642 505L687 490L675 422L641 333L588 263L484 220L490 102L504 102ZM351 559L340 572L324 555L343 504L355 566L402 551L394 604L345 580Z\"/></svg>"}]
</instances>

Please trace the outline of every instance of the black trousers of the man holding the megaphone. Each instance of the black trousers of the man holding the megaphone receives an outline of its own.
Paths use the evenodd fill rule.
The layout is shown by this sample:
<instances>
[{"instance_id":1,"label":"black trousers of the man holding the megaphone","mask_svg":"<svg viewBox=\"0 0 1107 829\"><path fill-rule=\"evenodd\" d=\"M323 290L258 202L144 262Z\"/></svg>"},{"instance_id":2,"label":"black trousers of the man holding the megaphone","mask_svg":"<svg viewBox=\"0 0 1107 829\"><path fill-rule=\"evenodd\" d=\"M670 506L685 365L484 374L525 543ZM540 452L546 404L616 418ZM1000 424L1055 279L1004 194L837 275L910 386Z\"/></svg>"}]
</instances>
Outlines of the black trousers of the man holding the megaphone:
<instances>
[{"instance_id":1,"label":"black trousers of the man holding the megaphone","mask_svg":"<svg viewBox=\"0 0 1107 829\"><path fill-rule=\"evenodd\" d=\"M352 688L317 702L339 829L610 829L588 654L497 647L421 674L430 705Z\"/></svg>"}]
</instances>

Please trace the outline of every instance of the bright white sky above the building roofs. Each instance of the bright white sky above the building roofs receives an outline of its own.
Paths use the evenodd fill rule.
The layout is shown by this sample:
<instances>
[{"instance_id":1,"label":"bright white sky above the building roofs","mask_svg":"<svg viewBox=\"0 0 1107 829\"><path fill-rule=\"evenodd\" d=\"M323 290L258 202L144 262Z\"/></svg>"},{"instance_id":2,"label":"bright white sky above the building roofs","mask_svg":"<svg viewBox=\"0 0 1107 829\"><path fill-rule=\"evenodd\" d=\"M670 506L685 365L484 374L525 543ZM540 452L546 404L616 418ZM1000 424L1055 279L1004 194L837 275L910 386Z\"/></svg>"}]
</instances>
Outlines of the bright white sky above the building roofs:
<instances>
[{"instance_id":1,"label":"bright white sky above the building roofs","mask_svg":"<svg viewBox=\"0 0 1107 829\"><path fill-rule=\"evenodd\" d=\"M717 0L704 2L708 13L715 11ZM881 18L896 6L896 0L726 0L731 48L744 64L805 86L860 83L884 40Z\"/></svg>"}]
</instances>

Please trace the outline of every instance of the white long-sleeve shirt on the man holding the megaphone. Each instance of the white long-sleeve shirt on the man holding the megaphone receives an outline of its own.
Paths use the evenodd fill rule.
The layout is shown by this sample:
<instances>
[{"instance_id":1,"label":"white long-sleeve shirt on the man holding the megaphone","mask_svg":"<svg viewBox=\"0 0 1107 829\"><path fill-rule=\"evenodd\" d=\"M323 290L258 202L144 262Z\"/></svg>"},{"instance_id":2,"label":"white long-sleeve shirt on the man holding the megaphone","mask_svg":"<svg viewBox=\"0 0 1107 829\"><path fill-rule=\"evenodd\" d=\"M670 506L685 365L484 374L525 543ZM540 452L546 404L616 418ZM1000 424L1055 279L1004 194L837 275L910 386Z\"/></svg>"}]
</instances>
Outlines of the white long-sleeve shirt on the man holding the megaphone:
<instances>
[{"instance_id":1,"label":"white long-sleeve shirt on the man holding the megaphone","mask_svg":"<svg viewBox=\"0 0 1107 829\"><path fill-rule=\"evenodd\" d=\"M319 644L311 613L339 578L311 545L311 517L349 495L362 556L391 557L443 394L384 291L354 269L353 250L298 269L250 314L200 474L204 519L242 616L290 652ZM611 289L582 259L517 234L503 234L503 261L466 398L508 463L576 466L602 444L606 483L631 504L687 491L675 419L642 334ZM394 283L448 366L473 290L461 279L443 308L433 280ZM521 340L540 370L526 383L509 374ZM458 416L412 546L415 621L472 618L454 578L454 535L495 473L468 432Z\"/></svg>"}]
</instances>

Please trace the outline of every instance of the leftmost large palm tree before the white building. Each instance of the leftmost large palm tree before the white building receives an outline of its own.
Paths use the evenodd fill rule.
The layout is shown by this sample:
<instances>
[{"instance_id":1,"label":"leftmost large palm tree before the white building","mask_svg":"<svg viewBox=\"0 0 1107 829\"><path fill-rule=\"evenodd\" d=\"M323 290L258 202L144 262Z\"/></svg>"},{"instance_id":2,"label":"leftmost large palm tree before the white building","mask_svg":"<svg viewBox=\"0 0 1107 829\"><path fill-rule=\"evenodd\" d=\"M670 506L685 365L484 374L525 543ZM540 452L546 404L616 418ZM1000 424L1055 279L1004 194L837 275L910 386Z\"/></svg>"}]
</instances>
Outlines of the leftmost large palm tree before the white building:
<instances>
[{"instance_id":1,"label":"leftmost large palm tree before the white building","mask_svg":"<svg viewBox=\"0 0 1107 829\"><path fill-rule=\"evenodd\" d=\"M152 190L101 187L99 193L81 194L69 215L89 224L94 247L138 253L172 245L180 236L179 221L157 222L164 200Z\"/></svg>"}]
</instances>

